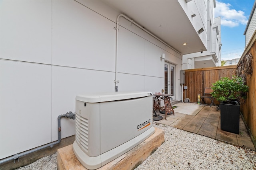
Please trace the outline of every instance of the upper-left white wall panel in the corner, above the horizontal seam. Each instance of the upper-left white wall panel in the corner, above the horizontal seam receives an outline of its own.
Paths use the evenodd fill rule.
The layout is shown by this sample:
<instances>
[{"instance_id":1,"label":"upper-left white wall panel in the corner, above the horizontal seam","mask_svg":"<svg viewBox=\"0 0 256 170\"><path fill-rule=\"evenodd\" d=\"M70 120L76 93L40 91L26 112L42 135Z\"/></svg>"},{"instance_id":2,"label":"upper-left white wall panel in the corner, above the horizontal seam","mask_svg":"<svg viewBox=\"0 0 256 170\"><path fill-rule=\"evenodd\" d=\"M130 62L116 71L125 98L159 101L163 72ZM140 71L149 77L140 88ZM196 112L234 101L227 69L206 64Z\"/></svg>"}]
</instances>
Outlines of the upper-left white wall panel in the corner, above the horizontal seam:
<instances>
[{"instance_id":1,"label":"upper-left white wall panel in the corner, above the horizontal seam","mask_svg":"<svg viewBox=\"0 0 256 170\"><path fill-rule=\"evenodd\" d=\"M52 2L1 1L1 59L51 64Z\"/></svg>"}]
</instances>

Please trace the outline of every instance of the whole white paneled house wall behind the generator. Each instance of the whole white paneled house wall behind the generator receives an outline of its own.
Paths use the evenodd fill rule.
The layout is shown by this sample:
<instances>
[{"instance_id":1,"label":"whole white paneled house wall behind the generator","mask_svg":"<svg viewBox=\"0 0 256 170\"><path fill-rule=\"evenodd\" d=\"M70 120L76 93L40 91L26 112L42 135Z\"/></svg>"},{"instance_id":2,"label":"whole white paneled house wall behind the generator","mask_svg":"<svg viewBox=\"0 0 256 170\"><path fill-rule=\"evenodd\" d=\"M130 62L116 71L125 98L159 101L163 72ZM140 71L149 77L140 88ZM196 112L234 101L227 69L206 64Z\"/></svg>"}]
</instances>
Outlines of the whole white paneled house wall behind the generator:
<instances>
[{"instance_id":1,"label":"whole white paneled house wall behind the generator","mask_svg":"<svg viewBox=\"0 0 256 170\"><path fill-rule=\"evenodd\" d=\"M98 1L0 3L2 159L56 141L57 117L75 111L76 95L114 92L120 13ZM164 89L165 53L176 65L176 100L181 99L179 54L124 18L118 42L118 91ZM74 135L74 120L61 123L62 138Z\"/></svg>"}]
</instances>

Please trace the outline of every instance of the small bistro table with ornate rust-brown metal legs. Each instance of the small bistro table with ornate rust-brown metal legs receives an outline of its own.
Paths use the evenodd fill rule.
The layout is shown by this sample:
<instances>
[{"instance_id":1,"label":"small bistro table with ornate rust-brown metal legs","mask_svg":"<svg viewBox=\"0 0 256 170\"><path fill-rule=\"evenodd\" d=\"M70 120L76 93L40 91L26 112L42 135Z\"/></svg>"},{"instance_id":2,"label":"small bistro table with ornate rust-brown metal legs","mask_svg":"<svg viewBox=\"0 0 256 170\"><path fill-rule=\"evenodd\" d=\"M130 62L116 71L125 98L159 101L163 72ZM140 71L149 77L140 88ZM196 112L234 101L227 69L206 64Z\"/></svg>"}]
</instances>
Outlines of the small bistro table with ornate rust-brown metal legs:
<instances>
[{"instance_id":1,"label":"small bistro table with ornate rust-brown metal legs","mask_svg":"<svg viewBox=\"0 0 256 170\"><path fill-rule=\"evenodd\" d=\"M172 114L174 115L174 110L172 109L172 105L171 105L171 97L172 94L153 94L153 96L156 96L156 100L157 102L154 102L154 109L158 109L159 112L160 110L164 110L165 111L165 119L166 119L166 116L167 114ZM161 109L160 107L160 101L163 101L164 102L164 109Z\"/></svg>"}]
</instances>

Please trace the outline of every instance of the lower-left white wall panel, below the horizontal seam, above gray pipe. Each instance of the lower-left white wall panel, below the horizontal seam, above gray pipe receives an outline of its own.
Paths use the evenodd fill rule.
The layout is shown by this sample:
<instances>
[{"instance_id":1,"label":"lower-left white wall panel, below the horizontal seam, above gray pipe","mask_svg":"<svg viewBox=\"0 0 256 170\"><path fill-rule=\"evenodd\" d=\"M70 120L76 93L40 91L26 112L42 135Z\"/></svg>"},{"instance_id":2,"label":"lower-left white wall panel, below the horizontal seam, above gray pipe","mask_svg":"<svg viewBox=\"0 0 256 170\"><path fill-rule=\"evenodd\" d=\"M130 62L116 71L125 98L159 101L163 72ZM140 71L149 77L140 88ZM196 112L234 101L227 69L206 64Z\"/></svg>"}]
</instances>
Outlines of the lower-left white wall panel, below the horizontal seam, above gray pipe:
<instances>
[{"instance_id":1,"label":"lower-left white wall panel, below the horizontal seam, above gray pipe","mask_svg":"<svg viewBox=\"0 0 256 170\"><path fill-rule=\"evenodd\" d=\"M0 60L1 158L51 142L51 66Z\"/></svg>"}]
</instances>

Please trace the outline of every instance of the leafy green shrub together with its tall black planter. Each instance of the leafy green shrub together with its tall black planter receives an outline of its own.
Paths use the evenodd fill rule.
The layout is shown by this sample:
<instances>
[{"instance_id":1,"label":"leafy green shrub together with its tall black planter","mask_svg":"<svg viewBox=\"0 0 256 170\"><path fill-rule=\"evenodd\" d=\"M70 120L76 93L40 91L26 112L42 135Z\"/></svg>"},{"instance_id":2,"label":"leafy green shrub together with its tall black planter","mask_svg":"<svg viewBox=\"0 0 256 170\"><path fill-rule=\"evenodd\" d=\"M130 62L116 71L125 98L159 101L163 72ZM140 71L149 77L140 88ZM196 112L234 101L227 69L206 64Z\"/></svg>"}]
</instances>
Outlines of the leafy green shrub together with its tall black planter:
<instances>
[{"instance_id":1,"label":"leafy green shrub together with its tall black planter","mask_svg":"<svg viewBox=\"0 0 256 170\"><path fill-rule=\"evenodd\" d=\"M241 77L223 77L212 84L212 97L220 102L220 128L239 133L240 104L246 100L248 86Z\"/></svg>"}]
</instances>

